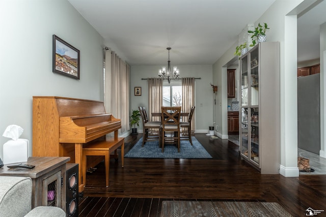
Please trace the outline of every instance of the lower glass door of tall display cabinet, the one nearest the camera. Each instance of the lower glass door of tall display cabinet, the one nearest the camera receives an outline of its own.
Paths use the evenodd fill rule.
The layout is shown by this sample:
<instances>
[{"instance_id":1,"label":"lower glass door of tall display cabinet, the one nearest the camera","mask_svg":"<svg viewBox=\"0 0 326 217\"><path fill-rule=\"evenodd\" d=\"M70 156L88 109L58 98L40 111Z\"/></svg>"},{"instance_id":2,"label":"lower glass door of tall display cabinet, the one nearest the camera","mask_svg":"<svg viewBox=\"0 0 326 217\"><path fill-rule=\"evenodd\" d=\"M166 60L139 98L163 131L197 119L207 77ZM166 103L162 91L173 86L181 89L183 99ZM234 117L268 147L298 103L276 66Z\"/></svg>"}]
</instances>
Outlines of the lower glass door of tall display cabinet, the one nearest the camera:
<instances>
[{"instance_id":1,"label":"lower glass door of tall display cabinet, the one nearest the camera","mask_svg":"<svg viewBox=\"0 0 326 217\"><path fill-rule=\"evenodd\" d=\"M250 158L259 164L259 112L258 107L251 108L250 112Z\"/></svg>"}]
</instances>

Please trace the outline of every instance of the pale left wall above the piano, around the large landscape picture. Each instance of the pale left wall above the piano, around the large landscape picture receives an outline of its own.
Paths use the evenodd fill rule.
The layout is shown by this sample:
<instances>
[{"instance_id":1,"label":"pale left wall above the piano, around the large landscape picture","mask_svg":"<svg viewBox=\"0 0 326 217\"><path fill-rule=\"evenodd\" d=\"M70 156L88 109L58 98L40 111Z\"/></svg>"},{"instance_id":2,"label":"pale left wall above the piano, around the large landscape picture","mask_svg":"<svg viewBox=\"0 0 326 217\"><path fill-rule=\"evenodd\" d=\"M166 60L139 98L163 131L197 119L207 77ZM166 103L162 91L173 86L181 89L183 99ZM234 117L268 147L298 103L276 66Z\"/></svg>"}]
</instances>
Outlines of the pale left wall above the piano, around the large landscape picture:
<instances>
[{"instance_id":1,"label":"pale left wall above the piano, around the large landscape picture","mask_svg":"<svg viewBox=\"0 0 326 217\"><path fill-rule=\"evenodd\" d=\"M103 100L103 39L66 0L2 0L0 22L0 134L21 126L32 153L33 96ZM80 80L52 72L53 34L80 50Z\"/></svg>"}]
</instances>

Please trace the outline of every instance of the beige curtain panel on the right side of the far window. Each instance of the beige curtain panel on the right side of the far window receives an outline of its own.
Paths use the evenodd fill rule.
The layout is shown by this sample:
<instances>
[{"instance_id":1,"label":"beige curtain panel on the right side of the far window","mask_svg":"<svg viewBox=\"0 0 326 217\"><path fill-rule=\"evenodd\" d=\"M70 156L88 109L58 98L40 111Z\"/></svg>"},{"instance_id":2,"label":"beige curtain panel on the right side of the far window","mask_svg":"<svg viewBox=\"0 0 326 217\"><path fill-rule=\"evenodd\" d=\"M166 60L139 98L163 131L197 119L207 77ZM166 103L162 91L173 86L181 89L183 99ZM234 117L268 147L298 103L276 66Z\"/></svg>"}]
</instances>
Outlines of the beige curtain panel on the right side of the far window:
<instances>
[{"instance_id":1,"label":"beige curtain panel on the right side of the far window","mask_svg":"<svg viewBox=\"0 0 326 217\"><path fill-rule=\"evenodd\" d=\"M182 78L182 111L190 112L192 106L195 106L195 78ZM182 121L188 121L187 117L182 117ZM195 131L194 117L192 131Z\"/></svg>"}]
</instances>

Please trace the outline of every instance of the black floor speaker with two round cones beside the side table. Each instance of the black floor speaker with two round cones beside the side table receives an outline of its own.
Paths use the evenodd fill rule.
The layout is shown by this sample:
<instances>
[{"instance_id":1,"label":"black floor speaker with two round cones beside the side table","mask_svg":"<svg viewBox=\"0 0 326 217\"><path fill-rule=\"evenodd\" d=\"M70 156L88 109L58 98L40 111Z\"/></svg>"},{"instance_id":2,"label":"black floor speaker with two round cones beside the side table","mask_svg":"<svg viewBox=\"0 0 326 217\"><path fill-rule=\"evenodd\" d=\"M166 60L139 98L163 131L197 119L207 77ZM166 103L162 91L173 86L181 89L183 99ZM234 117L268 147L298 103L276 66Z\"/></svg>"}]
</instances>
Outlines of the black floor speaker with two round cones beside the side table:
<instances>
[{"instance_id":1,"label":"black floor speaker with two round cones beside the side table","mask_svg":"<svg viewBox=\"0 0 326 217\"><path fill-rule=\"evenodd\" d=\"M78 216L78 164L66 164L66 212Z\"/></svg>"}]
</instances>

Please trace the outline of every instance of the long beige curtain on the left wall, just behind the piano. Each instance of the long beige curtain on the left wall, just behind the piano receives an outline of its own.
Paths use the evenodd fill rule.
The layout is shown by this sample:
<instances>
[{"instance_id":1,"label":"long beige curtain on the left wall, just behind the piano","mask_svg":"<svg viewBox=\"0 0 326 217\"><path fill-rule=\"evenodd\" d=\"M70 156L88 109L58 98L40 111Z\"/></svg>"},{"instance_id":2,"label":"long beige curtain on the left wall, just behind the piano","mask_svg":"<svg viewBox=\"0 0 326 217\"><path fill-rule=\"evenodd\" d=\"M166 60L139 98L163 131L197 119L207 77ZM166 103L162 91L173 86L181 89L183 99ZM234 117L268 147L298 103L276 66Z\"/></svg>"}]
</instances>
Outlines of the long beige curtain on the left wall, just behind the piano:
<instances>
[{"instance_id":1,"label":"long beige curtain on the left wall, just behind the piano","mask_svg":"<svg viewBox=\"0 0 326 217\"><path fill-rule=\"evenodd\" d=\"M121 119L119 134L129 128L130 66L114 51L105 52L104 105L106 113Z\"/></svg>"}]
</instances>

